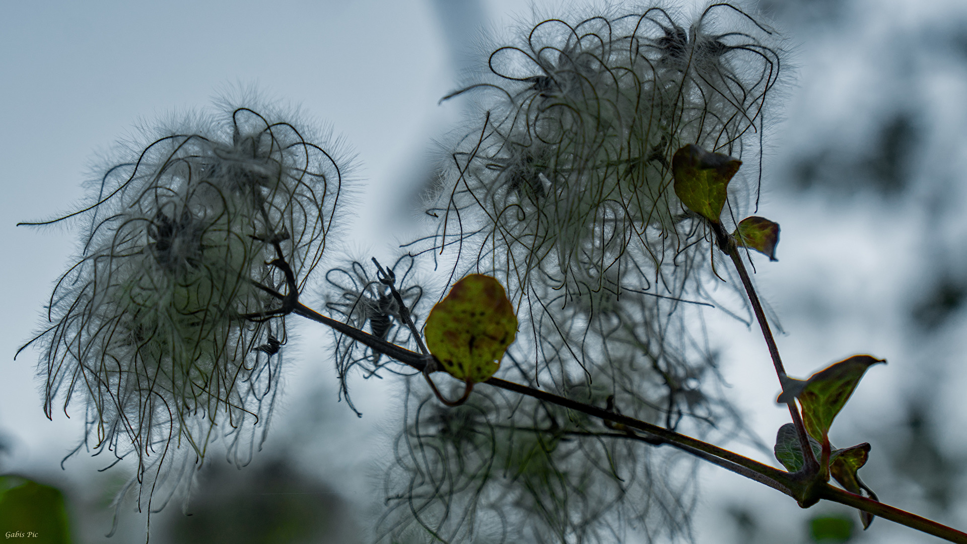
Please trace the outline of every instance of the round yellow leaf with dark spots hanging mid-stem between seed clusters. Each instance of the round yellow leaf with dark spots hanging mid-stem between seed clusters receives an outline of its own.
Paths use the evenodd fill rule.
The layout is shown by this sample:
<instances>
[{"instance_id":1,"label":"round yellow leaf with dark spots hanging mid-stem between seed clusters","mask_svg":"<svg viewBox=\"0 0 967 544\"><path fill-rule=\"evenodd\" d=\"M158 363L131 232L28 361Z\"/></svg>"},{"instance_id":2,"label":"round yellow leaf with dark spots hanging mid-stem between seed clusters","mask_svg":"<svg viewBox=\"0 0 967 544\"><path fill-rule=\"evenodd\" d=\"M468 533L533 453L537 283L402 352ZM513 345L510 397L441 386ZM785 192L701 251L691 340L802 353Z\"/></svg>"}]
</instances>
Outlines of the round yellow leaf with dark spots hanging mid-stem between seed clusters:
<instances>
[{"instance_id":1,"label":"round yellow leaf with dark spots hanging mid-stem between seed clusters","mask_svg":"<svg viewBox=\"0 0 967 544\"><path fill-rule=\"evenodd\" d=\"M500 368L504 351L517 333L517 317L504 287L484 274L456 282L426 318L426 348L443 370L479 383Z\"/></svg>"}]
</instances>

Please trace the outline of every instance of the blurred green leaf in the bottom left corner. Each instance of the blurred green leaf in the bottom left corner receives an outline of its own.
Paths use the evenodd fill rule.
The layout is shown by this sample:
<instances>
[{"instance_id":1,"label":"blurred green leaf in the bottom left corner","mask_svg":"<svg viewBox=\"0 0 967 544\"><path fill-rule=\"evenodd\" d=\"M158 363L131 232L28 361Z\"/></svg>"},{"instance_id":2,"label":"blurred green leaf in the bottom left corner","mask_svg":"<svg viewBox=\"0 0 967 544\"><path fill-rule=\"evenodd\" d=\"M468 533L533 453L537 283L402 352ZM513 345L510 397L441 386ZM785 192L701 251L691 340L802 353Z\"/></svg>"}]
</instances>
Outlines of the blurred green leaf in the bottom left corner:
<instances>
[{"instance_id":1,"label":"blurred green leaf in the bottom left corner","mask_svg":"<svg viewBox=\"0 0 967 544\"><path fill-rule=\"evenodd\" d=\"M69 544L64 496L50 486L0 476L0 534L16 541Z\"/></svg>"}]
</instances>

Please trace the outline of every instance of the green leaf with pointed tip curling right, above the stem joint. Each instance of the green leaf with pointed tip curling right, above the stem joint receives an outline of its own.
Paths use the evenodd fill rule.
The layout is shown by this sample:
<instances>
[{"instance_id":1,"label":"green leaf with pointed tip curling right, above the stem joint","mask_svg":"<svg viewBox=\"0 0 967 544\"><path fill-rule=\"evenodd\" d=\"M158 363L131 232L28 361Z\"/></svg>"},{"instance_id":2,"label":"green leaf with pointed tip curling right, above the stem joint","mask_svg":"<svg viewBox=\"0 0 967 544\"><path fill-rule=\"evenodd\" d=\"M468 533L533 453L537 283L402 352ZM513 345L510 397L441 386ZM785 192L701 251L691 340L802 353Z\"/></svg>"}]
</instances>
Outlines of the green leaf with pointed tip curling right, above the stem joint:
<instances>
[{"instance_id":1,"label":"green leaf with pointed tip curling right, above the stem joint","mask_svg":"<svg viewBox=\"0 0 967 544\"><path fill-rule=\"evenodd\" d=\"M866 369L885 362L870 355L854 355L830 365L805 381L786 378L777 402L786 403L792 397L798 398L803 407L806 432L822 443L827 439L836 414L846 405Z\"/></svg>"}]
</instances>

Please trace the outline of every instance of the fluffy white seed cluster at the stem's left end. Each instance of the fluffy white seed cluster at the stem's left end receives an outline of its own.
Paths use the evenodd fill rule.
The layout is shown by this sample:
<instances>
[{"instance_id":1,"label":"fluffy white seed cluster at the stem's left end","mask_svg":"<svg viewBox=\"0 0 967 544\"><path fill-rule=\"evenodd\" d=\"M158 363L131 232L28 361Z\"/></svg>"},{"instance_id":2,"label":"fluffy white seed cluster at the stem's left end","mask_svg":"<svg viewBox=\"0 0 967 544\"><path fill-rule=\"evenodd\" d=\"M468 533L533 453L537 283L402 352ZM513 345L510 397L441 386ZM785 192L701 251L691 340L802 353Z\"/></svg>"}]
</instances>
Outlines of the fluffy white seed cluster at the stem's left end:
<instances>
[{"instance_id":1,"label":"fluffy white seed cluster at the stem's left end","mask_svg":"<svg viewBox=\"0 0 967 544\"><path fill-rule=\"evenodd\" d=\"M36 339L47 415L57 398L83 403L85 443L134 453L142 487L164 487L186 454L200 466L214 438L244 464L264 437L285 341L272 291L292 286L272 261L305 279L343 181L325 142L283 114L229 108L177 127L121 152L74 214L88 234Z\"/></svg>"}]
</instances>

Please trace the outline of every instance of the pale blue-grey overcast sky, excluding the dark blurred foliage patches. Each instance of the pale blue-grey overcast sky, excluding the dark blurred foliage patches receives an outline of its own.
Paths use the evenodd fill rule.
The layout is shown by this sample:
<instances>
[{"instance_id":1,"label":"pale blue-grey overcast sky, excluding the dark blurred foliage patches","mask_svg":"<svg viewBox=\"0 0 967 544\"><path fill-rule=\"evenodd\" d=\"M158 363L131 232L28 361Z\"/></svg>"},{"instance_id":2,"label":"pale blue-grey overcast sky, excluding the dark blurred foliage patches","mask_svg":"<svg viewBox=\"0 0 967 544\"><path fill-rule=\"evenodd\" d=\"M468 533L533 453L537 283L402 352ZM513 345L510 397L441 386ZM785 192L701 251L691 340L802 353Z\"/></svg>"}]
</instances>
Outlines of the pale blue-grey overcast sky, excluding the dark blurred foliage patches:
<instances>
[{"instance_id":1,"label":"pale blue-grey overcast sky, excluding the dark blurred foliage patches","mask_svg":"<svg viewBox=\"0 0 967 544\"><path fill-rule=\"evenodd\" d=\"M79 421L63 413L55 413L53 421L44 417L34 379L36 354L27 351L12 360L37 327L52 282L73 253L73 234L15 227L16 222L72 209L97 154L137 123L209 106L232 86L255 85L267 98L301 106L331 124L355 151L365 203L354 219L352 243L379 254L396 239L380 233L391 229L398 235L407 225L408 206L428 171L431 139L458 119L458 102L437 105L466 63L454 53L454 43L472 36L478 24L506 21L513 7L509 0L470 2L463 10L446 0L3 3L0 243L7 257L0 273L8 311L0 317L0 350L7 353L0 358L0 436L11 449L0 457L0 468L53 470L80 438ZM956 48L960 32L967 58L967 9L943 0L916 11L895 0L776 0L767 7L780 24L785 17L799 72L787 89L787 106L780 108L786 121L775 132L760 209L782 225L780 260L762 261L758 282L788 331L779 343L790 374L805 378L857 352L890 360L864 379L851 402L857 407L844 412L838 428L843 440L874 441L863 433L882 424L878 417L899 417L897 395L940 379L936 396L955 399L967 386L958 355L964 347L957 332L962 312L930 337L929 357L904 332L910 301L920 291L928 295L936 268L958 270L967 262L967 252L955 255L967 221L953 204L967 202L962 173L967 63L957 60ZM797 161L832 163L837 151L867 153L878 145L870 135L897 111L910 111L919 123L920 159L907 177L921 185L905 188L901 196L794 187ZM923 239L930 233L941 239L933 246ZM930 254L926 246L940 249ZM737 403L753 428L772 440L788 415L773 403L778 385L760 338L728 318L709 326L729 339L720 345L723 374L735 385ZM289 358L293 399L312 391L313 380L334 378L331 361L313 351L328 332L309 338L315 333L303 330L305 344ZM924 357L942 363L930 366ZM335 395L335 388L325 390ZM378 388L361 391L364 402L380 405ZM340 414L334 417L358 425L357 435L380 421L378 409L357 424L335 398L332 407ZM967 410L947 409L948 424L961 430L947 446L967 445L962 432ZM82 466L88 467L75 467ZM782 502L780 516L801 519L795 504L772 490L721 471L703 470L702 477L711 490L703 506L710 516L720 516L715 512L733 500L755 508ZM365 489L365 482L354 485ZM889 489L881 498L904 499ZM947 516L962 529L963 501ZM871 531L882 532L872 541L919 538L883 529L888 525L882 520L874 525ZM700 542L732 541L701 528Z\"/></svg>"}]
</instances>

